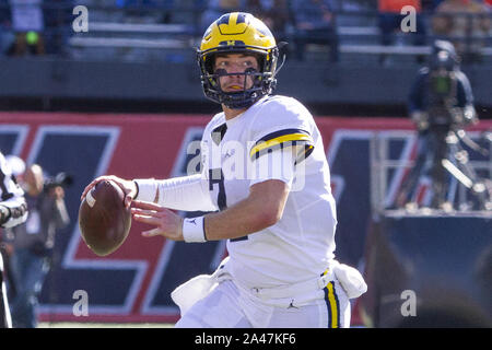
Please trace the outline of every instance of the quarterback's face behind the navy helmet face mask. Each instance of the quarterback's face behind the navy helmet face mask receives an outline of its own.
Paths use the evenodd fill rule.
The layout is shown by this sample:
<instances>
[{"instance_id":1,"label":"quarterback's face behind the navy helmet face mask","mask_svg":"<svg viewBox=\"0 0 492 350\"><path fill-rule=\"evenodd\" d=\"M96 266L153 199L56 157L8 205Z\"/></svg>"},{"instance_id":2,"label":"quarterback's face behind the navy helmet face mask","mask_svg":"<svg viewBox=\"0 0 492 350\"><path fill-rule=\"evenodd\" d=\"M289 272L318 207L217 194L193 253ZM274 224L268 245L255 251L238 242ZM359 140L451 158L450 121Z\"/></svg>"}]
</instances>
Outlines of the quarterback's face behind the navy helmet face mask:
<instances>
[{"instance_id":1,"label":"quarterback's face behind the navy helmet face mask","mask_svg":"<svg viewBox=\"0 0 492 350\"><path fill-rule=\"evenodd\" d=\"M230 54L215 58L214 71L223 70L226 73L244 73L247 69L258 70L258 60L253 55ZM244 74L224 75L219 78L222 91L235 92L250 89L253 86L253 78Z\"/></svg>"}]
</instances>

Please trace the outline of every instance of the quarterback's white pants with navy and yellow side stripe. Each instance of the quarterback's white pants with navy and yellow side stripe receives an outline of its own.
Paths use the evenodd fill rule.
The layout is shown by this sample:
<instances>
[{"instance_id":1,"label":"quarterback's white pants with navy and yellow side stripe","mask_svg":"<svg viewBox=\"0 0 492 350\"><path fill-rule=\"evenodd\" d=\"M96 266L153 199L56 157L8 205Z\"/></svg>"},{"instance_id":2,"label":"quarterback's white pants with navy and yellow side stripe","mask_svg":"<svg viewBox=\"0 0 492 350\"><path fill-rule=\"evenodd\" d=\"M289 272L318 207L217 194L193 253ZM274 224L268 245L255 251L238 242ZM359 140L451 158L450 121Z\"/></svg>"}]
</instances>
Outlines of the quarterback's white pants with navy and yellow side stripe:
<instances>
[{"instance_id":1,"label":"quarterback's white pants with navy and yellow side stripe","mask_svg":"<svg viewBox=\"0 0 492 350\"><path fill-rule=\"evenodd\" d=\"M331 283L331 282L330 282ZM304 306L271 306L245 298L232 280L221 282L192 305L177 328L336 328L350 327L350 301L338 281L324 289L325 298ZM248 315L248 316L246 316ZM253 317L251 317L253 315Z\"/></svg>"}]
</instances>

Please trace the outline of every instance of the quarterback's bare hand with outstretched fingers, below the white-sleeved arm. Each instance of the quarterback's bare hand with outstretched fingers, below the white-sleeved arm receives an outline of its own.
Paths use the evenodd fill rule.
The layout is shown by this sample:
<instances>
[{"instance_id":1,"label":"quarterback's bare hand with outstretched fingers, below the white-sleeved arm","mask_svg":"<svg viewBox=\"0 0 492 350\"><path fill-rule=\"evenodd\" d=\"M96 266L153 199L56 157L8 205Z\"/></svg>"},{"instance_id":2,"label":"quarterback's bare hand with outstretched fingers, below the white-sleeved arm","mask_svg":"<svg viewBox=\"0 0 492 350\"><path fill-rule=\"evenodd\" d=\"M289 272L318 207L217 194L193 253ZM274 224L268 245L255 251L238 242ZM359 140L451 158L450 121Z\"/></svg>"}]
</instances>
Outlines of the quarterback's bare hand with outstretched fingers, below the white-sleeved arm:
<instances>
[{"instance_id":1,"label":"quarterback's bare hand with outstretched fingers, below the white-sleeved arm","mask_svg":"<svg viewBox=\"0 0 492 350\"><path fill-rule=\"evenodd\" d=\"M155 226L142 232L145 237L162 235L173 241L184 241L183 218L173 211L147 201L131 202L133 220Z\"/></svg>"}]
</instances>

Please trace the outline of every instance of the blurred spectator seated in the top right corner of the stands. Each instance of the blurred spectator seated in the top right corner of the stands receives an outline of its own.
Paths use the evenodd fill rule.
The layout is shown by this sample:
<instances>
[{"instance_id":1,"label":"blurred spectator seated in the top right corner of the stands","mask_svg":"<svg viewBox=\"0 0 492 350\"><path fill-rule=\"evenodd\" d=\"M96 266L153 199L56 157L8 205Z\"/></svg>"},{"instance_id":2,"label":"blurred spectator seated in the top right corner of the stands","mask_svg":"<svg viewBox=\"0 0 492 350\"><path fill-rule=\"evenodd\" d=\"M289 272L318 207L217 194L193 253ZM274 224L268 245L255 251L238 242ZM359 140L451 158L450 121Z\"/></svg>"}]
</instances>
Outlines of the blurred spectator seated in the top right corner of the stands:
<instances>
[{"instance_id":1,"label":"blurred spectator seated in the top right corner of the stands","mask_svg":"<svg viewBox=\"0 0 492 350\"><path fill-rule=\"evenodd\" d=\"M452 40L462 61L469 62L480 60L491 21L482 2L445 0L435 10L432 28L436 36Z\"/></svg>"}]
</instances>

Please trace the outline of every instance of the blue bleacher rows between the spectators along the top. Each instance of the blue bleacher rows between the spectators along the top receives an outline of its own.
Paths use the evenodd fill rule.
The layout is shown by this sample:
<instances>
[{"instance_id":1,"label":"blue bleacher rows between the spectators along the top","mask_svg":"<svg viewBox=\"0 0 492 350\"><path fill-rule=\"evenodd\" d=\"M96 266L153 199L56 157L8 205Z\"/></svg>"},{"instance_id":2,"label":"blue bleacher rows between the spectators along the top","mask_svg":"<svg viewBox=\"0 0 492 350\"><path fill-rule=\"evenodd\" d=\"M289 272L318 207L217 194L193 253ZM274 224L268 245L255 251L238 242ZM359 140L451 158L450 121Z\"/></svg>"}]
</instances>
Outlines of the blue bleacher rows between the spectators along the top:
<instances>
[{"instance_id":1,"label":"blue bleacher rows between the spectators along the top","mask_svg":"<svg viewBox=\"0 0 492 350\"><path fill-rule=\"evenodd\" d=\"M226 2L227 3L227 2ZM251 3L251 4L250 4ZM259 8L261 3L263 8ZM405 63L413 58L408 56L426 55L429 43L436 36L443 37L442 32L435 33L436 1L422 1L422 19L425 25L425 45L412 45L408 33L396 31L391 45L382 45L382 32L378 26L378 11L376 0L328 1L333 12L333 25L339 42L341 60L373 61L373 56L390 55L396 63ZM75 5L83 4L90 11L89 32L75 33L71 28ZM295 54L295 42L298 31L295 28L291 1L230 1L229 5L238 4L239 8L229 10L249 10L259 16L269 18L276 5L285 4L286 9L278 9L277 15L284 20L282 27L276 28L278 35L290 43L289 50ZM220 1L204 0L87 0L87 1L44 1L43 8L46 36L46 54L68 55L73 59L117 59L126 61L186 61L192 55L190 49L196 47L203 31L202 20L221 13ZM485 14L491 18L490 5ZM8 1L0 2L0 19L3 23L2 49L12 54L14 33L10 23L11 7ZM261 13L261 11L265 11ZM268 12L270 11L270 12ZM444 15L447 15L444 13ZM466 16L471 24L473 14L454 13ZM492 56L492 30L489 35L475 37L473 33L458 38L464 42L482 40L482 59L490 61ZM277 33L276 33L277 34ZM329 45L313 43L305 46L308 59L326 59ZM329 43L327 43L329 44ZM156 52L159 50L159 52ZM163 54L164 52L164 54ZM298 55L291 55L295 59Z\"/></svg>"}]
</instances>

